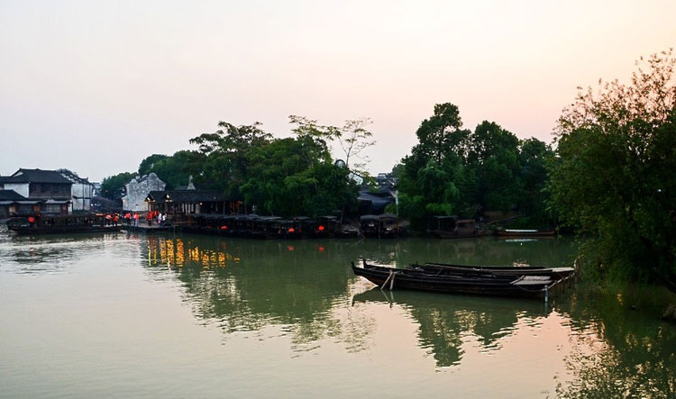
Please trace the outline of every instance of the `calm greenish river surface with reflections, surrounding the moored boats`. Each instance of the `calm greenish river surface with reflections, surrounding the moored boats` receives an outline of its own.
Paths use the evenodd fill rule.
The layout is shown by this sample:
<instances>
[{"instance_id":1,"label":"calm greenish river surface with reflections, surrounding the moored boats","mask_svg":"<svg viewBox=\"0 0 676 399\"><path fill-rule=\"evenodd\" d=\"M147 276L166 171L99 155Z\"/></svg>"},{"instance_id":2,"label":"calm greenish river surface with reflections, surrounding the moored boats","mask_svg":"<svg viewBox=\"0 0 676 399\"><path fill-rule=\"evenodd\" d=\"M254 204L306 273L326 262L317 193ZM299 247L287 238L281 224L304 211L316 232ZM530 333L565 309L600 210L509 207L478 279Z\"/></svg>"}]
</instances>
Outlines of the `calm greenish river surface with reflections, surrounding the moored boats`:
<instances>
[{"instance_id":1,"label":"calm greenish river surface with reflections, surrounding the moored boats","mask_svg":"<svg viewBox=\"0 0 676 399\"><path fill-rule=\"evenodd\" d=\"M571 240L256 241L0 227L2 397L676 394L673 297L380 291L350 262L571 264ZM637 310L631 310L632 305Z\"/></svg>"}]
</instances>

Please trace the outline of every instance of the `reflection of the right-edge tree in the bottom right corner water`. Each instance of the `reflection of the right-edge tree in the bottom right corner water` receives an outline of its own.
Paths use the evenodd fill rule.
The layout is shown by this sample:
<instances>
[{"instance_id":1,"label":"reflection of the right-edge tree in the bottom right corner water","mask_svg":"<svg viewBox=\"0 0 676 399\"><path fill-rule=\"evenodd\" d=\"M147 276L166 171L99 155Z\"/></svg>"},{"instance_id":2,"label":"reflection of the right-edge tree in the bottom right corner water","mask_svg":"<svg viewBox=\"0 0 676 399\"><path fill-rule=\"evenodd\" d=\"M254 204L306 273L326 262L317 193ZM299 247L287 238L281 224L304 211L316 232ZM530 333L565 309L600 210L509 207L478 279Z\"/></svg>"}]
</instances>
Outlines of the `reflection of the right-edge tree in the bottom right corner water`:
<instances>
[{"instance_id":1,"label":"reflection of the right-edge tree in the bottom right corner water","mask_svg":"<svg viewBox=\"0 0 676 399\"><path fill-rule=\"evenodd\" d=\"M656 295L576 292L562 310L575 335L566 364L574 379L560 382L566 397L674 397L676 329L657 317ZM645 298L648 295L650 298ZM640 304L632 311L628 304Z\"/></svg>"}]
</instances>

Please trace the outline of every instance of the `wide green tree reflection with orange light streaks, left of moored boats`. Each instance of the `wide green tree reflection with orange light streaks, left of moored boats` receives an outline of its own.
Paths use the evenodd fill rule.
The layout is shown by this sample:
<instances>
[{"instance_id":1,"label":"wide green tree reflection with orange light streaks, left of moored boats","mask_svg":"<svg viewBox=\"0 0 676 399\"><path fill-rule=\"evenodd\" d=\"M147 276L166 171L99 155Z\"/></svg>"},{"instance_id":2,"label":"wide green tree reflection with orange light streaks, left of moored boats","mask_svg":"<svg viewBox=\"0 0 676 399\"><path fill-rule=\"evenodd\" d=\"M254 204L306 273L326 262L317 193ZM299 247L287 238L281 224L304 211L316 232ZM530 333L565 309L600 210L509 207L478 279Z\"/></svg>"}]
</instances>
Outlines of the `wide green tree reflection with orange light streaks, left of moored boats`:
<instances>
[{"instance_id":1,"label":"wide green tree reflection with orange light streaks, left of moored boats","mask_svg":"<svg viewBox=\"0 0 676 399\"><path fill-rule=\"evenodd\" d=\"M309 342L343 334L343 320L334 308L346 298L347 282L353 278L343 245L350 247L354 241L150 236L148 258L151 266L176 270L199 319L228 333L277 324L290 334L295 348L302 349Z\"/></svg>"}]
</instances>

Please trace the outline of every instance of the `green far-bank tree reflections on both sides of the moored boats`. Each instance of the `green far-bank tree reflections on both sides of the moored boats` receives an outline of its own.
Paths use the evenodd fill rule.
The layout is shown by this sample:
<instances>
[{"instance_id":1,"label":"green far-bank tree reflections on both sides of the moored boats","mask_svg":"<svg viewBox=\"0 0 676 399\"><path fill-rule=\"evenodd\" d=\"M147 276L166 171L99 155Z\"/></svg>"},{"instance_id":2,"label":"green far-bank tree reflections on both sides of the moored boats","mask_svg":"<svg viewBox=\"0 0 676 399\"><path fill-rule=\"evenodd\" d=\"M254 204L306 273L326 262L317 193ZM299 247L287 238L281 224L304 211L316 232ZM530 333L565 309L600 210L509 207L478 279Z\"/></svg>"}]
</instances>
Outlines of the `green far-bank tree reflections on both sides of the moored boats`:
<instances>
[{"instance_id":1,"label":"green far-bank tree reflections on both sides of the moored boats","mask_svg":"<svg viewBox=\"0 0 676 399\"><path fill-rule=\"evenodd\" d=\"M290 334L298 349L327 337L352 350L367 346L372 320L345 309L353 295L355 301L379 301L382 294L359 294L372 285L352 275L352 260L403 267L427 259L510 264L520 258L559 266L571 248L562 245L566 250L553 256L552 240L530 242L526 252L522 242L505 240L258 241L192 235L146 240L148 265L176 273L199 320L228 334L283 326L282 333ZM397 292L397 304L405 305L420 324L420 347L433 351L440 367L461 360L461 337L468 332L480 338L484 349L498 349L498 340L517 321L544 316L537 301Z\"/></svg>"}]
</instances>

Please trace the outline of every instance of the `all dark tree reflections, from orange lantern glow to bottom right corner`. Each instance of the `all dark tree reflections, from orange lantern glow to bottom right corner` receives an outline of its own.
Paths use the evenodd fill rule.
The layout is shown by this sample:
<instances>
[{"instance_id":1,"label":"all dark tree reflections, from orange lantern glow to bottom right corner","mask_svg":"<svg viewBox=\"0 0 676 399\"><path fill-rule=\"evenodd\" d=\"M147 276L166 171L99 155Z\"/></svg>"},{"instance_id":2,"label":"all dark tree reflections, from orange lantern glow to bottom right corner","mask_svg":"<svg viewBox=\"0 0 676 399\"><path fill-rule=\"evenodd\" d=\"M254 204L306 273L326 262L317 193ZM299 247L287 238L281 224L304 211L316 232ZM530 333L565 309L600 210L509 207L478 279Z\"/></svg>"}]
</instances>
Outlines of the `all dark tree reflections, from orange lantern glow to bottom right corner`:
<instances>
[{"instance_id":1,"label":"all dark tree reflections, from orange lantern glow to bottom right corner","mask_svg":"<svg viewBox=\"0 0 676 399\"><path fill-rule=\"evenodd\" d=\"M421 352L432 356L436 367L455 368L470 349L472 355L497 354L519 331L553 322L567 340L544 338L545 344L565 348L560 359L568 374L556 376L557 394L674 393L676 329L654 314L664 298L651 304L582 286L548 309L527 299L383 292L354 277L349 268L359 258L397 267L425 260L561 266L574 253L570 241L254 241L190 235L145 240L142 251L151 276L176 278L196 319L218 326L226 339L237 332L266 331L260 340L287 336L297 353L327 340L360 352L385 338L378 329L380 318L404 317L416 328ZM383 315L376 308L384 304L401 312ZM629 304L639 304L639 311L631 311ZM271 334L270 326L275 327ZM527 343L519 348L527 351Z\"/></svg>"}]
</instances>

